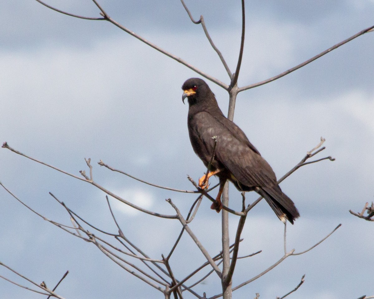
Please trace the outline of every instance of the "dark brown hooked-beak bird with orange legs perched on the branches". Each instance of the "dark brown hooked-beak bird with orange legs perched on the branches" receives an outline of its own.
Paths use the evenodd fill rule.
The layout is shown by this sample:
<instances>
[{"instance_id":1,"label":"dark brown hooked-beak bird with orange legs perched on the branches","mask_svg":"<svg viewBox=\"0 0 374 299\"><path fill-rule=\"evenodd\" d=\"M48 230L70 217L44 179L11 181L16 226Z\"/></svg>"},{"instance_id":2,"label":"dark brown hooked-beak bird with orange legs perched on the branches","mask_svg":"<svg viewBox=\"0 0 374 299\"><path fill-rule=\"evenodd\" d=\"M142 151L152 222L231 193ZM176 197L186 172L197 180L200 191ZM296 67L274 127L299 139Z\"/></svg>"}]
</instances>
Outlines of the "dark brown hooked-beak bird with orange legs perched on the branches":
<instances>
[{"instance_id":1,"label":"dark brown hooked-beak bird with orange legs perched on the branches","mask_svg":"<svg viewBox=\"0 0 374 299\"><path fill-rule=\"evenodd\" d=\"M208 84L200 78L190 78L182 89L183 103L188 99L187 126L192 148L205 166L210 167L198 186L207 189L213 175L220 182L211 209L220 212L223 187L230 181L239 191L257 192L283 223L288 220L294 224L300 216L295 204L282 192L272 167L245 133L224 116Z\"/></svg>"}]
</instances>

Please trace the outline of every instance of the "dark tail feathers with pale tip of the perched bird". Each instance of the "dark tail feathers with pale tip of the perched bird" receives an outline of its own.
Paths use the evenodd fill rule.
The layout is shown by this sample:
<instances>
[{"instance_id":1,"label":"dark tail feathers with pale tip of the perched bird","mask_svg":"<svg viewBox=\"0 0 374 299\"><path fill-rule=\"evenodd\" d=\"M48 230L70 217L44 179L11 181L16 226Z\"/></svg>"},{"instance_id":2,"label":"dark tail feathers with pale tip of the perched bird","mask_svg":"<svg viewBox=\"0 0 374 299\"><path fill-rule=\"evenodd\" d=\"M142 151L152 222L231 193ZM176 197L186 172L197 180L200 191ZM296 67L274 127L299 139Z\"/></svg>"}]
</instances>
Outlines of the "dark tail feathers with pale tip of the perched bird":
<instances>
[{"instance_id":1,"label":"dark tail feathers with pale tip of the perched bird","mask_svg":"<svg viewBox=\"0 0 374 299\"><path fill-rule=\"evenodd\" d=\"M300 216L294 202L282 192L278 185L260 187L256 192L265 198L269 206L275 212L275 215L277 215L283 223L285 223L287 219L291 224L294 224L294 220Z\"/></svg>"}]
</instances>

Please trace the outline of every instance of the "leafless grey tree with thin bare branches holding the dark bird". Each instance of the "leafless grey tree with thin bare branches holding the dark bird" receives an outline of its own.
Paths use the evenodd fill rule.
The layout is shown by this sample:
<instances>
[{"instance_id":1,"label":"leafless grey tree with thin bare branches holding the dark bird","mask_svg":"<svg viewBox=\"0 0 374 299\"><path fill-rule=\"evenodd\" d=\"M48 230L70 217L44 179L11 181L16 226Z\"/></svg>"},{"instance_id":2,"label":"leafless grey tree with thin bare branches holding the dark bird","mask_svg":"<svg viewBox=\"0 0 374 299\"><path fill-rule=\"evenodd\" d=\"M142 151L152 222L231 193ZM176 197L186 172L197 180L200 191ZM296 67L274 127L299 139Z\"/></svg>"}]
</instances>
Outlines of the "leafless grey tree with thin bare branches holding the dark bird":
<instances>
[{"instance_id":1,"label":"leafless grey tree with thin bare branches holding the dark bird","mask_svg":"<svg viewBox=\"0 0 374 299\"><path fill-rule=\"evenodd\" d=\"M74 18L80 18L80 19L88 19L88 20L97 20L97 21L107 21L110 22L111 24L117 26L121 30L125 31L126 33L130 34L131 36L134 36L135 38L139 39L140 41L144 42L148 46L152 47L153 49L163 53L164 55L168 56L171 59L174 59L175 61L185 65L187 68L190 68L191 70L195 71L197 74L199 74L202 77L205 77L206 79L214 82L218 86L222 87L229 93L229 111L228 111L228 118L230 120L233 120L234 116L234 107L235 107L235 101L236 101L236 96L239 92L242 92L244 90L248 90L257 86L261 86L263 84L272 82L274 80L277 80L278 78L283 77L284 75L287 75L291 73L292 71L297 70L298 68L301 68L310 62L320 58L321 56L329 53L330 51L340 47L341 45L349 42L350 40L353 40L354 38L361 36L364 33L367 33L369 31L372 31L374 26L371 26L369 28L366 28L359 33L355 34L352 37L347 38L344 41L341 41L338 44L335 44L334 46L330 47L329 49L319 53L318 55L308 59L307 61L289 69L281 74L278 74L272 78L269 78L267 80L258 82L258 83L253 83L253 84L248 84L246 86L239 87L237 86L237 80L240 74L240 67L242 63L242 56L243 56L243 50L244 50L244 39L245 39L245 9L244 9L244 0L241 1L242 5L242 30L241 30L241 40L240 40L240 50L238 53L238 58L237 58L237 64L235 70L230 70L228 67L225 59L223 58L223 55L221 54L220 50L215 46L214 42L212 41L212 38L209 36L208 30L205 26L205 21L203 16L200 16L199 20L195 20L193 16L191 15L190 11L188 10L188 7L184 3L183 0L181 0L181 4L183 5L184 9L186 10L186 13L191 19L191 22L194 24L201 24L203 31L208 38L209 43L211 44L212 48L217 52L217 55L219 56L224 68L227 71L227 75L229 77L229 83L224 83L217 78L212 77L209 74L204 73L203 71L199 70L198 68L194 67L193 65L189 64L188 62L184 61L183 59L173 55L172 53L167 52L166 50L160 48L159 46L151 43L148 40L145 40L145 38L139 36L138 34L134 33L133 31L129 30L125 26L119 24L117 21L112 19L107 12L105 12L104 8L101 6L101 4L98 3L96 0L92 0L93 4L98 8L98 12L101 15L100 17L85 17L85 16L80 16L80 15L74 15L69 12L62 11L56 7L52 7L46 3L44 3L41 0L36 0L37 2L43 4L44 6L48 7L49 9L55 10L56 12L63 13L65 15L72 16ZM309 165L311 163L316 163L322 160L330 160L333 161L334 158L332 157L322 157L322 158L317 158L316 160L313 160L315 155L321 153L325 147L322 147L322 144L325 140L321 138L321 142L314 147L312 150L308 151L307 154L301 159L301 161L296 164L289 172L287 172L281 179L279 179L278 182L283 181L285 178L287 178L289 175L291 175L293 172L295 172L297 169L299 169L302 166ZM142 280L145 284L148 284L149 286L153 287L154 289L158 290L161 292L164 296L164 298L171 298L172 296L177 299L177 298L184 298L184 293L188 292L192 296L199 298L199 299L204 299L207 298L206 294L199 294L194 290L194 286L197 284L201 283L206 277L209 275L215 273L221 281L222 285L222 291L218 292L217 294L210 296L209 299L215 299L215 298L220 298L223 297L224 299L230 299L232 298L232 292L245 286L246 284L251 283L252 281L256 280L257 278L261 277L262 275L266 274L276 266L278 266L280 263L282 263L286 258L289 256L295 256L295 255L301 255L309 250L313 249L314 247L318 246L322 241L324 241L326 238L328 238L336 229L340 227L340 224L337 225L328 235L326 235L322 240L318 241L315 244L311 244L310 248L302 250L300 252L295 252L295 249L289 250L287 249L286 246L286 224L284 227L284 255L279 258L277 262L275 262L273 265L270 265L267 269L264 269L262 272L259 274L253 276L253 277L243 277L243 281L236 286L232 285L232 276L235 270L236 263L238 259L243 259L243 258L249 258L253 255L257 255L261 253L261 250L246 256L238 256L238 250L239 250L239 245L241 242L241 233L242 229L244 227L246 217L249 213L249 211L261 200L261 197L255 200L253 203L247 204L245 202L245 195L242 194L242 209L240 211L235 211L233 209L229 208L229 193L228 193L228 184L226 184L223 192L223 211L222 211L222 248L220 250L217 250L217 255L211 256L208 251L205 249L203 245L203 241L199 240L197 236L194 234L193 230L190 228L189 224L191 221L195 219L196 213L199 209L200 203L203 199L203 197L208 198L211 201L214 201L214 198L212 198L209 195L209 191L214 189L217 186L214 186L213 188L210 188L208 190L203 190L200 189L197 184L193 181L192 178L189 178L195 189L193 190L179 190L179 189L174 189L170 187L163 187L159 185L152 184L151 182L144 181L139 178L135 178L134 176L126 173L125 171L116 169L112 166L109 166L108 164L104 163L104 161L99 161L98 164L100 166L104 166L105 168L113 171L113 172L118 172L123 175L129 176L135 180L138 180L144 184L148 184L157 188L163 188L175 192L185 192L185 193L193 193L196 194L196 200L193 202L193 204L190 207L189 212L187 215L182 215L178 207L173 203L172 199L167 199L166 202L167 204L170 204L173 209L175 210L175 214L172 215L166 215L166 214L161 214L157 213L151 210L144 209L142 207L139 207L135 205L134 203L131 203L127 201L124 198L121 198L120 196L114 194L113 192L105 189L101 185L99 185L95 180L93 179L93 166L91 164L91 159L86 159L86 164L88 167L88 174L86 171L81 171L80 174L81 176L76 176L71 173L65 172L64 170L58 169L52 165L49 165L47 163L44 163L42 161L37 160L36 158L30 157L29 155L23 154L19 152L16 149L11 148L6 142L3 144L3 148L9 149L10 151L14 152L15 154L21 155L23 157L26 157L28 159L31 159L37 163L41 163L47 167L50 167L58 172L62 172L65 175L69 175L73 178L76 178L78 180L87 182L94 187L100 189L101 191L105 192L107 194L106 200L108 203L108 209L110 210L110 213L112 215L112 221L116 225L118 231L117 232L108 232L105 231L101 228L98 228L94 226L92 223L88 222L85 220L84 216L78 215L74 210L70 209L67 205L64 204L64 202L60 201L55 195L50 193L50 195L56 200L61 206L64 207L67 213L67 217L70 218L71 225L65 225L56 221L53 221L51 219L46 218L36 210L34 210L32 207L28 206L23 200L19 199L14 195L9 189L7 189L3 184L1 186L9 192L12 197L14 197L16 200L21 202L25 207L30 209L33 213L36 213L38 216L43 218L44 220L50 222L53 225L56 225L57 227L61 228L62 230L68 232L71 235L74 235L77 238L80 238L82 240L85 240L86 242L89 242L93 245L95 245L99 250L101 250L104 255L106 255L108 258L110 258L113 262L115 262L117 265L119 265L122 269L125 271L128 271L130 274L134 275L135 277L139 278ZM181 231L179 234L179 237L177 240L175 240L173 246L171 246L170 250L168 251L167 254L162 255L161 258L154 258L150 257L145 253L144 249L139 248L133 241L129 240L128 237L123 233L123 229L120 227L116 220L116 215L114 214L113 210L111 209L111 204L110 204L110 198L114 198L115 200L121 201L123 204L126 204L133 209L137 209L143 213L146 213L148 215L154 216L154 217L159 217L159 218L164 218L164 219L169 219L169 221L179 221L181 224ZM369 216L366 218L363 217L363 212L364 210L367 209L370 213ZM373 206L371 208L365 207L363 212L360 214L361 218L365 218L366 220L373 221L371 217L373 216ZM236 215L238 217L238 226L236 230L236 235L235 235L235 241L233 244L229 244L229 213ZM358 215L356 215L358 216ZM370 219L368 219L370 218ZM196 268L194 271L189 272L184 274L183 277L176 277L174 274L174 268L169 263L171 256L174 253L175 248L178 246L178 243L181 239L181 236L186 232L190 238L194 241L196 246L199 248L201 251L202 255L205 256L206 262L200 265L198 268ZM138 262L141 263L141 265L138 265ZM31 283L33 283L36 288L35 289L30 289L28 287L25 287L21 284L15 283L14 281L9 280L8 278L4 278L12 283L17 284L19 287L24 287L25 289L28 289L33 292L37 292L40 294L43 294L45 296L50 297L55 297L55 298L62 298L61 296L57 295L55 293L55 289L58 286L58 284L53 288L49 289L46 284L43 282L42 284L35 283L31 279L23 276L22 274L18 273L11 267L5 265L4 263L0 263L1 266L6 267L10 271L14 272L16 275L19 275L22 279L25 279ZM205 271L204 275L201 273ZM199 274L199 275L197 275ZM67 273L64 275L64 277L67 275ZM64 278L62 277L62 279ZM295 292L304 282L304 275L301 278L300 283L297 284L297 286L288 292L287 294L278 297L279 299L283 299L292 292ZM258 298L258 294L256 295L256 298ZM373 298L373 297L366 297L368 298Z\"/></svg>"}]
</instances>

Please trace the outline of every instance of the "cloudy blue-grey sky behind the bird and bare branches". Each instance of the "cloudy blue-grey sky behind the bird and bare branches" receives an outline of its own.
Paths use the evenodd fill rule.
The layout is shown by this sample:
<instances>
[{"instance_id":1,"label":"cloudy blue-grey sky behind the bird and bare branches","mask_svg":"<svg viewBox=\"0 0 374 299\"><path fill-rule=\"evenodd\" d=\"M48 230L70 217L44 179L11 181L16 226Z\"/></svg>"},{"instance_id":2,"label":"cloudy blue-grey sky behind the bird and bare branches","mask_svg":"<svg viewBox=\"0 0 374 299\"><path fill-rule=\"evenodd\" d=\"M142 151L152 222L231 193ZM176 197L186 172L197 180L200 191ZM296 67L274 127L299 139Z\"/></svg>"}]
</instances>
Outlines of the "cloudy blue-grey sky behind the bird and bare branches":
<instances>
[{"instance_id":1,"label":"cloudy blue-grey sky behind the bird and bare branches","mask_svg":"<svg viewBox=\"0 0 374 299\"><path fill-rule=\"evenodd\" d=\"M99 17L88 0L48 1L61 10ZM180 1L99 1L120 24L200 70L229 84L217 54L200 25ZM230 69L240 45L240 1L186 0L206 26ZM373 0L247 1L246 39L238 86L273 77L373 24ZM183 82L201 77L105 21L62 15L34 0L0 3L0 141L35 159L80 176L91 158L94 180L126 200L173 215L165 201L187 215L195 194L142 184L96 162L153 184L193 190L205 167L194 154L187 131ZM374 296L368 260L374 224L359 212L374 195L374 33L367 33L279 80L239 93L234 122L280 178L315 147L321 136L332 156L304 166L281 183L300 218L287 226L287 249L301 252L341 227L322 244L233 293L233 298L276 298L300 282L288 298L337 299ZM228 94L207 81L224 114ZM34 210L71 225L70 217L48 192L93 225L116 233L105 193L8 149L0 150L0 182ZM212 179L212 184L217 179ZM249 204L257 197L246 195ZM216 191L211 191L215 197ZM177 220L143 215L110 197L124 234L149 256L161 259L176 240ZM190 227L211 255L220 252L221 214L203 199ZM230 186L230 207L241 195ZM54 286L64 298L163 298L110 261L93 244L44 221L0 188L0 262L22 275ZM238 218L230 215L230 240ZM283 256L283 224L266 202L249 213L242 232L233 285L248 280ZM109 239L108 239L109 240ZM170 263L177 278L205 262L184 234ZM208 269L203 273L205 274ZM202 274L202 275L203 275ZM4 267L0 275L31 287ZM193 281L191 281L192 283ZM212 274L195 290L220 290ZM43 298L0 280L1 298ZM184 298L195 298L184 293Z\"/></svg>"}]
</instances>

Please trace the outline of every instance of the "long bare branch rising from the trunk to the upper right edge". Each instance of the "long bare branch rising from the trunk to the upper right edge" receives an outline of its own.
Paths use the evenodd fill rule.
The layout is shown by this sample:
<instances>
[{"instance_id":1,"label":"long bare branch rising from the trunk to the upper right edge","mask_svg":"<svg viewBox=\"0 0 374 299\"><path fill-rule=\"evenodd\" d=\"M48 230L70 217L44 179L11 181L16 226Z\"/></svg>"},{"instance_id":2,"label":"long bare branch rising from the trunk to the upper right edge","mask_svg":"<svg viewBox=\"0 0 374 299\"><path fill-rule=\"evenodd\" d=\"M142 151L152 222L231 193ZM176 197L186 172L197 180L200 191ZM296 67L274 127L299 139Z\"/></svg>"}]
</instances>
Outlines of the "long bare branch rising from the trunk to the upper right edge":
<instances>
[{"instance_id":1,"label":"long bare branch rising from the trunk to the upper right edge","mask_svg":"<svg viewBox=\"0 0 374 299\"><path fill-rule=\"evenodd\" d=\"M318 58L324 56L325 54L331 52L332 50L337 49L338 47L342 46L343 44L346 44L346 43L348 43L349 41L355 39L356 37L359 37L359 36L361 36L361 35L364 34L364 33L370 32L370 31L373 30L373 29L374 29L374 25L371 26L371 27L369 27L369 28L366 28L366 29L364 29L364 30L361 30L360 32L358 32L358 33L356 33L355 35L353 35L353 36L347 38L346 40L343 40L343 41L341 41L340 43L335 44L334 46L328 48L327 50L325 50L325 51L323 51L323 52L321 52L321 53L319 53L318 55L316 55L316 56L314 56L314 57L308 59L307 61L304 61L303 63L301 63L301 64L299 64L299 65L297 65L297 66L295 66L295 67L293 67L293 68L290 68L290 69L287 70L287 71L284 71L283 73L281 73L281 74L279 74L279 75L276 75L276 76L274 76L274 77L271 77L271 78L269 78L269 79L267 79L267 80L264 80L264 81L261 81L261 82L258 82L258 83L254 83L254 84L251 84L251 85L247 85L247 86L244 86L244 87L240 87L240 88L239 88L239 92L241 92L241 91L243 91L243 90L251 89L251 88L253 88L253 87L257 87L257 86L260 86L260 85L264 85L264 84L266 84L266 83L269 83L269 82L272 82L272 81L274 81L274 80L277 80L277 79L279 79L279 78L281 78L281 77L283 77L283 76L285 76L285 75L287 75L287 74L289 74L289 73L292 73L293 71L296 71L296 70L298 70L298 69L301 68L301 67L304 67L305 65L309 64L310 62L315 61L316 59L318 59Z\"/></svg>"}]
</instances>

